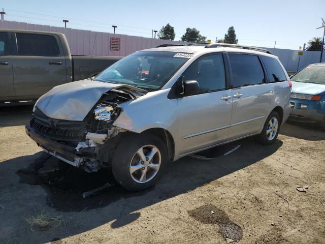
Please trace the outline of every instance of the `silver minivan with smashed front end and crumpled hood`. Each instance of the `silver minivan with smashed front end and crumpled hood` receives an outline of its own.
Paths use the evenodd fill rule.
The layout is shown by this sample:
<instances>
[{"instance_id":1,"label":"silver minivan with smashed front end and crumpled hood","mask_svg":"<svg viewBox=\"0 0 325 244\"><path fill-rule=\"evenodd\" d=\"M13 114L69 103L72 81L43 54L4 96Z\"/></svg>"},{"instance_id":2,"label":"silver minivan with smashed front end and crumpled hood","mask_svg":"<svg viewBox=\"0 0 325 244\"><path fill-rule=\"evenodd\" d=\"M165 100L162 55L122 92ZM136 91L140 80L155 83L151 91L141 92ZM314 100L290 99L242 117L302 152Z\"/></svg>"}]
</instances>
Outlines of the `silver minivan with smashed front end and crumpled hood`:
<instances>
[{"instance_id":1,"label":"silver minivan with smashed front end and crumpled hood","mask_svg":"<svg viewBox=\"0 0 325 244\"><path fill-rule=\"evenodd\" d=\"M139 191L186 155L248 136L272 144L290 94L268 50L166 44L54 87L37 101L26 133L50 155L90 173L111 167L121 186Z\"/></svg>"}]
</instances>

